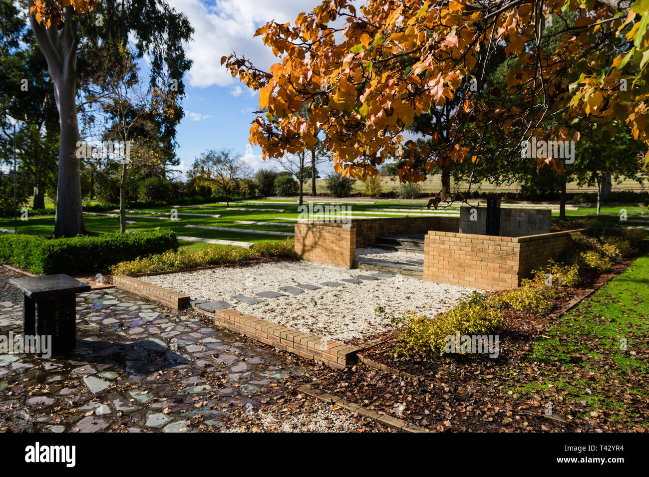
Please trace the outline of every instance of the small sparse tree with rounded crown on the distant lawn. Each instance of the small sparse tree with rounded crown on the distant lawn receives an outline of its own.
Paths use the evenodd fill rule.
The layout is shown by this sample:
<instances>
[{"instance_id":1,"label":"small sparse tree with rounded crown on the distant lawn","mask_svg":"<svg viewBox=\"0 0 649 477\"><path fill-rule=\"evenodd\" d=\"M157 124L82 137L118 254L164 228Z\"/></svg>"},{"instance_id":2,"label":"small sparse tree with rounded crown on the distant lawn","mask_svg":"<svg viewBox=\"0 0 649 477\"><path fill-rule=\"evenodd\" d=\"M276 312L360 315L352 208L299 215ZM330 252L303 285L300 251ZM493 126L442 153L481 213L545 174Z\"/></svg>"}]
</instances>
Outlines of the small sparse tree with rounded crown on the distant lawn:
<instances>
[{"instance_id":1,"label":"small sparse tree with rounded crown on the distant lawn","mask_svg":"<svg viewBox=\"0 0 649 477\"><path fill-rule=\"evenodd\" d=\"M215 151L210 149L194 160L188 171L190 180L198 184L211 186L225 197L227 206L230 206L230 195L239 178L250 175L248 165L241 160L241 155L229 149Z\"/></svg>"}]
</instances>

